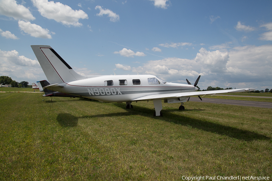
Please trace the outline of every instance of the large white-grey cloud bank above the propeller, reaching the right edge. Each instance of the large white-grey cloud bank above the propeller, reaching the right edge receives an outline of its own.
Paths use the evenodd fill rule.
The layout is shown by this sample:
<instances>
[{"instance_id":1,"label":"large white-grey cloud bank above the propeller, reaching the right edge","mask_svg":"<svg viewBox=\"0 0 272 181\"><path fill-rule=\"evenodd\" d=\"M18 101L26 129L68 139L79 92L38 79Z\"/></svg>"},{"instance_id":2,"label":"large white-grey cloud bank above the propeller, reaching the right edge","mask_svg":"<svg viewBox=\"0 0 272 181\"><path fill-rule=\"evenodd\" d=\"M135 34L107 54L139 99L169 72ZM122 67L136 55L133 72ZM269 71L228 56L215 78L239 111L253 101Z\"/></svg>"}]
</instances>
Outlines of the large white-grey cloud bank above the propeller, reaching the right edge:
<instances>
[{"instance_id":1,"label":"large white-grey cloud bank above the propeller, reaching the right edge","mask_svg":"<svg viewBox=\"0 0 272 181\"><path fill-rule=\"evenodd\" d=\"M165 58L150 60L135 68L140 74L156 75L165 81L191 83L201 75L198 86L251 87L272 76L272 45L237 46L228 51L199 49L193 59ZM132 68L133 69L133 68ZM262 85L259 85L262 86ZM255 87L253 87L255 88Z\"/></svg>"}]
</instances>

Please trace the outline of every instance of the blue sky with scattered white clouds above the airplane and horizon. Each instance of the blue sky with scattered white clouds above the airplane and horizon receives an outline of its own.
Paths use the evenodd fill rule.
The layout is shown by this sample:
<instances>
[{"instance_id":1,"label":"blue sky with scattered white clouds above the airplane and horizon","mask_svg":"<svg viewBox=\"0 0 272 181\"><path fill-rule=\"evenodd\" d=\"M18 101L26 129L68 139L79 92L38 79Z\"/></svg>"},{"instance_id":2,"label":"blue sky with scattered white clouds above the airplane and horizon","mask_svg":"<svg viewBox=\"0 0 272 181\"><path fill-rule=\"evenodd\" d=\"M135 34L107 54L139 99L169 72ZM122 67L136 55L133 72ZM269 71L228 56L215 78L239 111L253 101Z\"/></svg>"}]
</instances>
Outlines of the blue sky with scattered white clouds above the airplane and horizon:
<instances>
[{"instance_id":1,"label":"blue sky with scattered white clouds above the airplane and horizon","mask_svg":"<svg viewBox=\"0 0 272 181\"><path fill-rule=\"evenodd\" d=\"M272 88L272 1L0 0L0 75L46 79L30 45L79 74ZM114 71L114 72L113 72Z\"/></svg>"}]
</instances>

